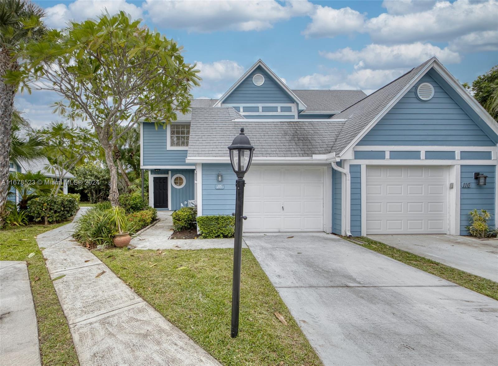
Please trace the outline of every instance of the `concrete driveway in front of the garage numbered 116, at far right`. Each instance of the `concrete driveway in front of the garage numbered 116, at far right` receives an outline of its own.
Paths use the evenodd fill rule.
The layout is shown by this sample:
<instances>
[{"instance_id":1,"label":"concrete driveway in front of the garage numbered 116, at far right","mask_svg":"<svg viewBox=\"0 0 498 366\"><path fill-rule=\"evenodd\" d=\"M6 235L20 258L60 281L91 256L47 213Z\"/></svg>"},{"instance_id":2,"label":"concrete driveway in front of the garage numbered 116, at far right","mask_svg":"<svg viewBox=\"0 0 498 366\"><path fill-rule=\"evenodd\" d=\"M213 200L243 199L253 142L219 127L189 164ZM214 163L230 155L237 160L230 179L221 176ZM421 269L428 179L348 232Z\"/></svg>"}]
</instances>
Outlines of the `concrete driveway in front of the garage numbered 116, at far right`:
<instances>
[{"instance_id":1,"label":"concrete driveway in front of the garage numbered 116, at far right","mask_svg":"<svg viewBox=\"0 0 498 366\"><path fill-rule=\"evenodd\" d=\"M498 240L456 235L369 235L369 238L498 282Z\"/></svg>"}]
</instances>

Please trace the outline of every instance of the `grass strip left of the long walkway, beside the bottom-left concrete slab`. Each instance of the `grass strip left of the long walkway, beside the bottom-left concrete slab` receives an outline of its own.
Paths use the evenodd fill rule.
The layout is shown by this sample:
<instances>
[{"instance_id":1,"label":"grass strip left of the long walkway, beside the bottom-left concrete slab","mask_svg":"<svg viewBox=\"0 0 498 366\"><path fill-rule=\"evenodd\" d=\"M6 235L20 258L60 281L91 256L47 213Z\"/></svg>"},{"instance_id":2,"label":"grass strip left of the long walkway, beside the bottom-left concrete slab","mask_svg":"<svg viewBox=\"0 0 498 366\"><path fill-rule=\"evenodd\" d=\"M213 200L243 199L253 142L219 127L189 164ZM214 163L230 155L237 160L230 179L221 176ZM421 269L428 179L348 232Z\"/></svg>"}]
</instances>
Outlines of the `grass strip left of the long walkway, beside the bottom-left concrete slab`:
<instances>
[{"instance_id":1,"label":"grass strip left of the long walkway, beside the bottom-left concrete slab","mask_svg":"<svg viewBox=\"0 0 498 366\"><path fill-rule=\"evenodd\" d=\"M28 263L43 365L79 365L66 317L34 238L66 223L0 230L0 260L23 260ZM30 253L35 255L28 258Z\"/></svg>"}]
</instances>

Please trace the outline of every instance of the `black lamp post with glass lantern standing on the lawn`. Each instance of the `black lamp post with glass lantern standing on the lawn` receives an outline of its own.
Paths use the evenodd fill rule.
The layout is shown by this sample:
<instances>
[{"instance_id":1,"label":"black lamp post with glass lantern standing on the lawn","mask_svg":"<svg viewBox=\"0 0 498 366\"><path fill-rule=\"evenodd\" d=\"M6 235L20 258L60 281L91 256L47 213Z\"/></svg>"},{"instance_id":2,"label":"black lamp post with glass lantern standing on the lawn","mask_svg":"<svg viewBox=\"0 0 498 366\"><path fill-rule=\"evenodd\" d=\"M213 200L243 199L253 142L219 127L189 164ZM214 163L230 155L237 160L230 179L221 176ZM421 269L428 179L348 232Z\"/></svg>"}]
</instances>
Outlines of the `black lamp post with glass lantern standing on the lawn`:
<instances>
[{"instance_id":1,"label":"black lamp post with glass lantern standing on the lawn","mask_svg":"<svg viewBox=\"0 0 498 366\"><path fill-rule=\"evenodd\" d=\"M244 175L249 170L254 147L246 135L244 128L232 145L228 147L232 169L237 175L235 183L237 193L235 198L235 235L234 235L234 275L232 279L232 328L230 336L239 334L239 305L241 301L241 264L242 264L242 219L247 219L244 214Z\"/></svg>"}]
</instances>

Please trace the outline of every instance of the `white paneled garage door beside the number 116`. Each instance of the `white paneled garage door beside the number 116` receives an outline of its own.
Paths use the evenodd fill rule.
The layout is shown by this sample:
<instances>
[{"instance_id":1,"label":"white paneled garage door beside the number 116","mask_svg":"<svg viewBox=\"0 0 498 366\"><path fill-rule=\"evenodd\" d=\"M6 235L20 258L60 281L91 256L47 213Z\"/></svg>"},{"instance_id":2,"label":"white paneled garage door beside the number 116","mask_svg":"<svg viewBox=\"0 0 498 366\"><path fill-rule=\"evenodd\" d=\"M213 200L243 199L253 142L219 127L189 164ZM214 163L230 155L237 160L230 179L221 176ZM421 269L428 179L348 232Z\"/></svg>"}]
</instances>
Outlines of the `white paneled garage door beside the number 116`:
<instances>
[{"instance_id":1,"label":"white paneled garage door beside the number 116","mask_svg":"<svg viewBox=\"0 0 498 366\"><path fill-rule=\"evenodd\" d=\"M367 167L367 234L445 234L445 167Z\"/></svg>"}]
</instances>

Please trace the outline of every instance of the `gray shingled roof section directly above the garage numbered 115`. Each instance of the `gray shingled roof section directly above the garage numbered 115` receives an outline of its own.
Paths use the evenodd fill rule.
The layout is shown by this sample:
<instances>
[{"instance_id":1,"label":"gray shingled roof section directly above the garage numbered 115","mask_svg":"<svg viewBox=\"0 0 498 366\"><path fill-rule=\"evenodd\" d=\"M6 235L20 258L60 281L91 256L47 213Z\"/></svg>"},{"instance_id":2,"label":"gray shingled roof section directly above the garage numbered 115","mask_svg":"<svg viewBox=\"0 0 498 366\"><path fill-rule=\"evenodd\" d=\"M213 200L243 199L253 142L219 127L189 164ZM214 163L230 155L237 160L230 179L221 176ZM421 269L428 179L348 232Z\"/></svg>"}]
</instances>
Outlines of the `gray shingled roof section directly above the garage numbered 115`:
<instances>
[{"instance_id":1,"label":"gray shingled roof section directly above the garage numbered 115","mask_svg":"<svg viewBox=\"0 0 498 366\"><path fill-rule=\"evenodd\" d=\"M241 121L233 108L194 108L188 157L228 157L227 147L244 127L255 147L254 157L311 157L332 150L343 122Z\"/></svg>"}]
</instances>

